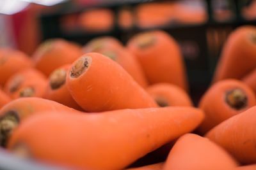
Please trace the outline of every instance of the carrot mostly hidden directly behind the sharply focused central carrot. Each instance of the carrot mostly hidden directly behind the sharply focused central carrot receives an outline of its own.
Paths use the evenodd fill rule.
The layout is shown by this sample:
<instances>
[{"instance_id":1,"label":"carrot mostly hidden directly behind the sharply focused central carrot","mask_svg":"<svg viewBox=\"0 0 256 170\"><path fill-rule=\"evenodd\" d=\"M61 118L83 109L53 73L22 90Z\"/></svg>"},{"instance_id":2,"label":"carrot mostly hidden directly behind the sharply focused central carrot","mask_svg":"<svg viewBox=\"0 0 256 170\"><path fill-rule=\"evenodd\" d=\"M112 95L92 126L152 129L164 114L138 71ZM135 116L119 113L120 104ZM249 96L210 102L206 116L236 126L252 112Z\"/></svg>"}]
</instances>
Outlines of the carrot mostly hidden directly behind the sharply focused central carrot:
<instances>
[{"instance_id":1,"label":"carrot mostly hidden directly behind the sharply focused central carrot","mask_svg":"<svg viewBox=\"0 0 256 170\"><path fill-rule=\"evenodd\" d=\"M141 87L147 87L148 83L138 60L134 56L132 56L132 53L130 53L125 48L102 46L101 48L98 48L97 50L92 52L102 53L106 57L115 60L120 66L125 69L125 71L127 71L132 76L132 78L134 78L135 81L137 81L137 83L141 85Z\"/></svg>"}]
</instances>

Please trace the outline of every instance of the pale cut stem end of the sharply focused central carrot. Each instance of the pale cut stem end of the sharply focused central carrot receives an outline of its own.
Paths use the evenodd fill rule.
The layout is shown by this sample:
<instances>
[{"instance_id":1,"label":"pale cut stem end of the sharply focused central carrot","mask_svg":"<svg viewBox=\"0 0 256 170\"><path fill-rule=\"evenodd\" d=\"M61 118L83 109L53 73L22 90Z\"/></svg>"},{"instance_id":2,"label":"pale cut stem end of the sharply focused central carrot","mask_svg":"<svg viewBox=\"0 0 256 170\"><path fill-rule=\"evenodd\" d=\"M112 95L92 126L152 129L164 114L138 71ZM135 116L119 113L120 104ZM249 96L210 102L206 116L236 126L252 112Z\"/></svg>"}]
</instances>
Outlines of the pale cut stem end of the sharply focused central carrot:
<instances>
[{"instance_id":1,"label":"pale cut stem end of the sharply focused central carrot","mask_svg":"<svg viewBox=\"0 0 256 170\"><path fill-rule=\"evenodd\" d=\"M92 59L90 57L81 57L76 63L72 66L70 71L70 76L72 78L78 78L81 74L86 71L86 69L90 66Z\"/></svg>"}]
</instances>

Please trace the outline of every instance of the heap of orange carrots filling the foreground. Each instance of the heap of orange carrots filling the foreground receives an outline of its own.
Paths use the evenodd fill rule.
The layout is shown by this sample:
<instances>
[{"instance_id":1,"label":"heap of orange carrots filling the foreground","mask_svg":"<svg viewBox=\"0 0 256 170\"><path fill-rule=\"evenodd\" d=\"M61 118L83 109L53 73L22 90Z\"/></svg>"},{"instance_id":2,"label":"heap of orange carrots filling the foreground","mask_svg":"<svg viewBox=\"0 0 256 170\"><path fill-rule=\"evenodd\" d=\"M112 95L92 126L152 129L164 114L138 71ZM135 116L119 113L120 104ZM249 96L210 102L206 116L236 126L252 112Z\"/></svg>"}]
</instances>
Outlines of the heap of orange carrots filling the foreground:
<instances>
[{"instance_id":1,"label":"heap of orange carrots filling the foreground","mask_svg":"<svg viewBox=\"0 0 256 170\"><path fill-rule=\"evenodd\" d=\"M80 19L94 23L90 13ZM127 46L110 36L84 46L51 39L31 57L0 48L0 73L0 145L22 159L90 170L256 168L254 26L230 34L197 105L179 43L160 30Z\"/></svg>"}]
</instances>

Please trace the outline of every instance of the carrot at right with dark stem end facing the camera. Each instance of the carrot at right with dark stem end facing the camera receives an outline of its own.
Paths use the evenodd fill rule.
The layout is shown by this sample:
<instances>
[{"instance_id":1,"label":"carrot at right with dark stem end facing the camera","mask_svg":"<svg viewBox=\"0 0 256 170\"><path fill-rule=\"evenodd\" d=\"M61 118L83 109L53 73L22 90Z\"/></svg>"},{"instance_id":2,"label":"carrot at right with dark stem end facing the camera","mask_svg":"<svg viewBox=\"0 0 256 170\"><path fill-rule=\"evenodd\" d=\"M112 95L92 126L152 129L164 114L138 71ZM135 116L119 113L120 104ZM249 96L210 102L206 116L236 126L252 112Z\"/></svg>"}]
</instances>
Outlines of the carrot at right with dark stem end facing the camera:
<instances>
[{"instance_id":1,"label":"carrot at right with dark stem end facing the camera","mask_svg":"<svg viewBox=\"0 0 256 170\"><path fill-rule=\"evenodd\" d=\"M239 80L220 81L205 92L199 108L205 111L205 119L198 127L200 134L212 129L238 113L255 106L256 99L252 89Z\"/></svg>"}]
</instances>

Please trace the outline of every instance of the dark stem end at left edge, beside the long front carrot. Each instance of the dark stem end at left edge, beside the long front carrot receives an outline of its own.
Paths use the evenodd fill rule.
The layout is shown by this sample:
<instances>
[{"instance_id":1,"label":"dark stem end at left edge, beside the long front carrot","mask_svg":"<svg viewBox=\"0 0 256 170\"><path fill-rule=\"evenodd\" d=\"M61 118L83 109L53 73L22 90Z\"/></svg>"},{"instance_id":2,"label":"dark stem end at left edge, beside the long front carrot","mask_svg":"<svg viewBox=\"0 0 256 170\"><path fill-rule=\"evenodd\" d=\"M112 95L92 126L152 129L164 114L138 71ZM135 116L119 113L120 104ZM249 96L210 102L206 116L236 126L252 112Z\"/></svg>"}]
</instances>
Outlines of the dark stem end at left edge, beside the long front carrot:
<instances>
[{"instance_id":1,"label":"dark stem end at left edge, beside the long front carrot","mask_svg":"<svg viewBox=\"0 0 256 170\"><path fill-rule=\"evenodd\" d=\"M8 111L0 118L0 144L6 146L13 129L19 125L19 117L15 111Z\"/></svg>"}]
</instances>

